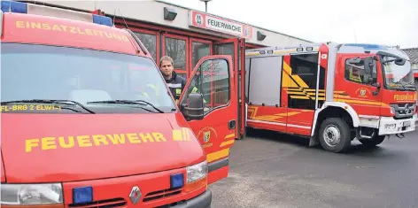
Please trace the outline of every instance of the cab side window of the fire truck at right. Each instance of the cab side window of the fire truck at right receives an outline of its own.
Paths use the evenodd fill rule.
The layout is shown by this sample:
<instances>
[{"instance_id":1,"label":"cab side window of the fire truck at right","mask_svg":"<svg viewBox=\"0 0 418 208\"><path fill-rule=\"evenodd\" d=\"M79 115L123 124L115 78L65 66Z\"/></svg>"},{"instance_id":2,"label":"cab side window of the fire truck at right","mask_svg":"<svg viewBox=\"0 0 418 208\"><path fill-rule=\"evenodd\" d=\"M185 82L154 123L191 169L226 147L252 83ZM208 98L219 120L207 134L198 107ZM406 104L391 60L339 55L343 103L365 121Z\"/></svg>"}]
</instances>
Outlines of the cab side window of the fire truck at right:
<instances>
[{"instance_id":1,"label":"cab side window of the fire truck at right","mask_svg":"<svg viewBox=\"0 0 418 208\"><path fill-rule=\"evenodd\" d=\"M345 60L344 77L347 81L353 81L360 84L370 84L369 78L373 77L372 73L377 73L376 68L366 73L364 70L364 58L347 58Z\"/></svg>"}]
</instances>

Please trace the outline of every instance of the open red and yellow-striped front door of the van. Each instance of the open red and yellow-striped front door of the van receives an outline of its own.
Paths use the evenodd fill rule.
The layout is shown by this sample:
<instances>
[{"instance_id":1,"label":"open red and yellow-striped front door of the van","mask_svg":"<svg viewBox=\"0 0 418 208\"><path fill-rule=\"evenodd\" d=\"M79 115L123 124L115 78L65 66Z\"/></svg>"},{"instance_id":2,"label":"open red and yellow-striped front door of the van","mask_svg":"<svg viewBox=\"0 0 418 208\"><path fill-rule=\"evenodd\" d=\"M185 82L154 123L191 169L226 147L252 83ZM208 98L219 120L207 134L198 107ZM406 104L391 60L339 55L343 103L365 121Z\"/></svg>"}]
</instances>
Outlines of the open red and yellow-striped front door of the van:
<instances>
[{"instance_id":1,"label":"open red and yellow-striped front door of the van","mask_svg":"<svg viewBox=\"0 0 418 208\"><path fill-rule=\"evenodd\" d=\"M188 120L206 154L208 184L228 176L229 149L235 142L237 120L237 82L231 56L201 58L180 97L183 112L191 93L204 98L204 118Z\"/></svg>"}]
</instances>

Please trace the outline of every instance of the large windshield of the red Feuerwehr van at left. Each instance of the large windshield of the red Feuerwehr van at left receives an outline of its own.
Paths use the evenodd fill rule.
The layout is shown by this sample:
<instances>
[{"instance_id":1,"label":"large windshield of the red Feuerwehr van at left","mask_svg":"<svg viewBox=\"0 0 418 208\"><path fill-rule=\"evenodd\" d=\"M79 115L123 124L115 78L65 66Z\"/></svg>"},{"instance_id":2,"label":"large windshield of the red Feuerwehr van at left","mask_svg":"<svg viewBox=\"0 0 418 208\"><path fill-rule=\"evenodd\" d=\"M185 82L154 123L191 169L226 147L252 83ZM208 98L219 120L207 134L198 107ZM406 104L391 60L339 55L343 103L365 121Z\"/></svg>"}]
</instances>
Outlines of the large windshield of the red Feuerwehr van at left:
<instances>
[{"instance_id":1,"label":"large windshield of the red Feuerwehr van at left","mask_svg":"<svg viewBox=\"0 0 418 208\"><path fill-rule=\"evenodd\" d=\"M33 99L70 100L97 113L126 112L126 109L128 112L149 113L156 112L154 107L162 112L175 109L159 69L150 58L18 43L2 43L1 53L2 103ZM145 102L90 103L109 100ZM73 108L79 109L80 106L74 105ZM74 113L62 111L61 107L57 109L62 113Z\"/></svg>"}]
</instances>

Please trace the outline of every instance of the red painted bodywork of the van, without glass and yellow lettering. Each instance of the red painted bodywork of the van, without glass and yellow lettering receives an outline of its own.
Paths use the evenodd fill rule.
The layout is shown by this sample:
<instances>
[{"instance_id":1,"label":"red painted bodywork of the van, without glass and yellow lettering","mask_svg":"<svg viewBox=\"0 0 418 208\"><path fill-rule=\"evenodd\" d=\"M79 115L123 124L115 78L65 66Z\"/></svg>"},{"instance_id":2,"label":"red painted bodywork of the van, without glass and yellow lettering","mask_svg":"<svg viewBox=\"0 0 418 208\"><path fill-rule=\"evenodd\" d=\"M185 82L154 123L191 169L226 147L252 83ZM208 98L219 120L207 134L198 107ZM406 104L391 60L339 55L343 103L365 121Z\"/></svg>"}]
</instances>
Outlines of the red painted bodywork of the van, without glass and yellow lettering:
<instances>
[{"instance_id":1,"label":"red painted bodywork of the van, without glass and yellow lettering","mask_svg":"<svg viewBox=\"0 0 418 208\"><path fill-rule=\"evenodd\" d=\"M82 31L86 31L85 29L100 30L120 37L125 35L128 41L106 38L100 35L80 35L39 28L18 28L16 21L40 23L41 27L43 27L42 24L49 24L50 26L55 24L80 27ZM142 50L139 53L136 52L139 47L128 32L118 28L19 13L4 13L2 42L49 44L145 56ZM146 57L151 58L151 55L147 54ZM236 71L234 71L231 58L228 56L207 58L228 59L229 65L231 65L229 70L232 73L230 79L231 103L227 107L208 114L203 120L187 122L180 112L166 114L3 113L1 117L2 163L0 164L2 182L6 179L7 182L16 183L62 181L64 182L66 205L73 201L72 188L86 185L94 187L94 200L115 197L128 199L129 192L134 185L141 186L143 195L152 191L168 189L169 181L167 180L169 180L168 175L170 173L185 173L185 166L205 160L208 153L213 153L210 156L211 158L218 157L216 160L225 158L217 151L228 150L232 146L232 143L222 147L220 144L228 141L225 139L226 135L235 132L227 129L227 120L237 119L237 100L236 96L233 96L236 95L237 80L234 75ZM199 64L201 63L202 61ZM189 84L190 81L188 81ZM203 150L199 143L203 141L203 135L198 134L201 127L207 126L214 127L219 137L212 138L213 147ZM25 130L16 130L19 127L25 127ZM174 141L172 130L179 127L192 128L190 141ZM75 140L73 148L64 149L58 146L57 149L42 150L42 144L40 143L30 152L26 152L25 149L27 139L41 139L48 136L89 135L91 138L91 135L152 132L163 134L166 142L132 144L126 138L125 144L112 144L107 139L110 144L99 146L93 144L89 147L79 147L77 140ZM197 135L199 141L197 141ZM27 172L27 170L30 170L30 172ZM228 166L210 173L207 181L212 183L227 176ZM202 184L206 184L206 182ZM192 186L196 186L196 184ZM188 200L204 192L206 185L195 188L188 193L183 190L179 195L167 196L149 204L141 205L143 205L142 207L154 207ZM132 205L129 200L127 201L128 206Z\"/></svg>"}]
</instances>

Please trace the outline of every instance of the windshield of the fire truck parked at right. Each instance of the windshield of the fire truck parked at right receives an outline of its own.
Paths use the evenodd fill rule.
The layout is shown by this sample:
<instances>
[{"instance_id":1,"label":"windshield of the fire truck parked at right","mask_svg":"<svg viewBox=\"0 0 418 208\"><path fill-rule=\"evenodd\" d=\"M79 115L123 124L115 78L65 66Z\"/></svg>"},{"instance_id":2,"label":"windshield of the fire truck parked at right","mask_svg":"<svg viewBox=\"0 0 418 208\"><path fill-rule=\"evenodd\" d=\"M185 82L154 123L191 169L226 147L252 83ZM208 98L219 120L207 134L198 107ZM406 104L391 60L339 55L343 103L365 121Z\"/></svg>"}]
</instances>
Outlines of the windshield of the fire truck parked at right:
<instances>
[{"instance_id":1,"label":"windshield of the fire truck parked at right","mask_svg":"<svg viewBox=\"0 0 418 208\"><path fill-rule=\"evenodd\" d=\"M393 60L383 64L386 86L396 89L414 87L414 73L411 62L406 60L404 65L397 65L394 59L387 56L383 57L383 62Z\"/></svg>"}]
</instances>

